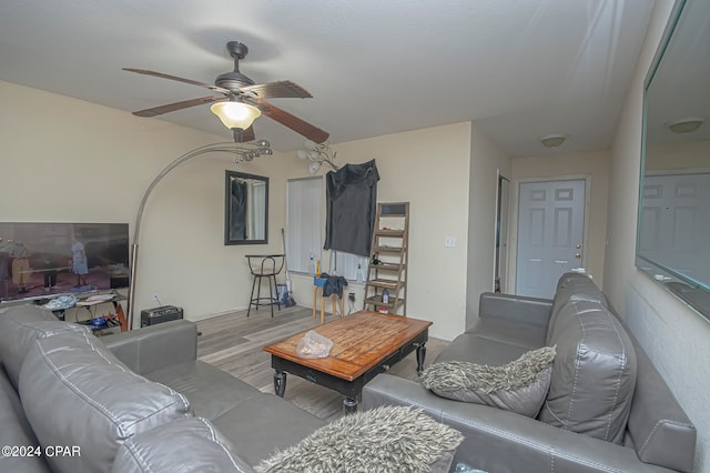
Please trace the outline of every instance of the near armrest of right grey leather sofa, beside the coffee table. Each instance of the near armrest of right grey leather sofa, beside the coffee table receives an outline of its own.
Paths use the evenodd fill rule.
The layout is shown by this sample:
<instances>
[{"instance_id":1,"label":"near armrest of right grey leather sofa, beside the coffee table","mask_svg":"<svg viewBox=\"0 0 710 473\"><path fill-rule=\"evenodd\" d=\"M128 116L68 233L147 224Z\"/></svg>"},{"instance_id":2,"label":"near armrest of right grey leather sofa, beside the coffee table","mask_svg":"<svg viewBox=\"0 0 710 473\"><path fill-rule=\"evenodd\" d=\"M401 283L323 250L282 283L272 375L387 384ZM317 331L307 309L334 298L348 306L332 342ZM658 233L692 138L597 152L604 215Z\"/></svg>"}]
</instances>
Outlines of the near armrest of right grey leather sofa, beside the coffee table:
<instances>
[{"instance_id":1,"label":"near armrest of right grey leather sofa, beside the coffee table","mask_svg":"<svg viewBox=\"0 0 710 473\"><path fill-rule=\"evenodd\" d=\"M458 431L465 440L454 464L496 471L549 473L670 472L642 463L633 449L565 431L535 419L432 394L419 383L379 374L363 390L363 407L412 405Z\"/></svg>"}]
</instances>

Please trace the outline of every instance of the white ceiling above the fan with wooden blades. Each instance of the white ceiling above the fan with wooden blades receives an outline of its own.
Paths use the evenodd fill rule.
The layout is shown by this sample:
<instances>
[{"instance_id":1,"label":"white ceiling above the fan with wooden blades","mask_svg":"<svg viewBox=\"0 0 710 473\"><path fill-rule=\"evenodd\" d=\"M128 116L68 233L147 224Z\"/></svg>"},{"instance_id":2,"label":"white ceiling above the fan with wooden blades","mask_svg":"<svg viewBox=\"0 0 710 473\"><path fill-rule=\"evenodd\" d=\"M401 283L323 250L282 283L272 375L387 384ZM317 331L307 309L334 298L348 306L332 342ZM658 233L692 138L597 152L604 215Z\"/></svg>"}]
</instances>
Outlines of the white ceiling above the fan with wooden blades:
<instances>
[{"instance_id":1,"label":"white ceiling above the fan with wooden blades","mask_svg":"<svg viewBox=\"0 0 710 473\"><path fill-rule=\"evenodd\" d=\"M211 94L232 70L313 99L272 103L331 142L476 120L510 155L610 144L653 0L3 0L0 80L125 111ZM206 93L205 93L206 92ZM160 118L231 138L207 105ZM158 120L135 118L135 120ZM303 139L268 118L277 150ZM569 134L557 150L538 139Z\"/></svg>"}]
</instances>

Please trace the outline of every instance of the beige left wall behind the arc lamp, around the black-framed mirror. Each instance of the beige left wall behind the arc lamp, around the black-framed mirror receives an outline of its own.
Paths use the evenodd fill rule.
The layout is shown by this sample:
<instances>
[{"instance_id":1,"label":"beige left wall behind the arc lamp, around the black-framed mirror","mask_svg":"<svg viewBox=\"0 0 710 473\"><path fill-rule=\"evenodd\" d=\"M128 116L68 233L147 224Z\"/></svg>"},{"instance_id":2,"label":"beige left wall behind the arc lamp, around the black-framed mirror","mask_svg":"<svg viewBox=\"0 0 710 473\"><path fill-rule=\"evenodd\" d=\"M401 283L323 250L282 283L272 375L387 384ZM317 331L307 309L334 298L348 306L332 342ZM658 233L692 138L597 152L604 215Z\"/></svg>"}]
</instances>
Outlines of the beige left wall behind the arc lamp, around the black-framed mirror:
<instances>
[{"instance_id":1,"label":"beige left wall behind the arc lamp, around the black-framed mirror","mask_svg":"<svg viewBox=\"0 0 710 473\"><path fill-rule=\"evenodd\" d=\"M0 82L0 220L126 222L153 178L181 154L230 141L63 95ZM246 308L246 253L282 251L285 177L301 163L276 153L234 164L210 154L172 171L149 199L141 228L135 314L163 304L185 318ZM270 244L224 246L224 171L271 179Z\"/></svg>"}]
</instances>

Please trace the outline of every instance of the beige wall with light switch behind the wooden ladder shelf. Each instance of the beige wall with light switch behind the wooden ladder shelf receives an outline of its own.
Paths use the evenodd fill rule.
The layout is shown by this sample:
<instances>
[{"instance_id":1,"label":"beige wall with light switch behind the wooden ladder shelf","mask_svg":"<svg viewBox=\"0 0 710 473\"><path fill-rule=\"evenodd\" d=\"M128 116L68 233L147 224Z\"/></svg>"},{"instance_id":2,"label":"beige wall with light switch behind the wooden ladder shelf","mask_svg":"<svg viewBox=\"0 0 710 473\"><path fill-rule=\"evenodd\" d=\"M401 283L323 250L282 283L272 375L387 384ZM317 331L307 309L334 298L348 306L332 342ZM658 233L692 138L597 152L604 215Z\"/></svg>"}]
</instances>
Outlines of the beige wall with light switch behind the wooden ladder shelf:
<instances>
[{"instance_id":1,"label":"beige wall with light switch behind the wooden ladder shelf","mask_svg":"<svg viewBox=\"0 0 710 473\"><path fill-rule=\"evenodd\" d=\"M376 159L377 201L410 202L407 315L433 321L430 336L446 340L465 324L470 129L464 122L333 147L341 165ZM306 165L302 168L301 175L307 175ZM446 235L456 238L455 248L444 246ZM325 271L327 261L324 251ZM293 285L296 302L311 306L312 280L294 278ZM352 289L359 310L362 285Z\"/></svg>"}]
</instances>

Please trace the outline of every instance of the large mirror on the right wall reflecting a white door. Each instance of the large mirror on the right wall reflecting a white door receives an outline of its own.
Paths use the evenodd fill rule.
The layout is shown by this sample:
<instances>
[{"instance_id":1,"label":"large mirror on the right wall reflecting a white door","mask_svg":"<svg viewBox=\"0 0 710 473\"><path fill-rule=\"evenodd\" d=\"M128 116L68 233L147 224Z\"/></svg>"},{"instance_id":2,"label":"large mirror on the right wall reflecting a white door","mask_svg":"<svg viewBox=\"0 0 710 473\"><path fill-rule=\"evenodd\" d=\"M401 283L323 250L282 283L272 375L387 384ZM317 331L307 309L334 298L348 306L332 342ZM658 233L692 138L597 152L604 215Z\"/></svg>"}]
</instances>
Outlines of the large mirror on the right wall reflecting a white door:
<instances>
[{"instance_id":1,"label":"large mirror on the right wall reflecting a white door","mask_svg":"<svg viewBox=\"0 0 710 473\"><path fill-rule=\"evenodd\" d=\"M679 0L647 77L636 263L710 321L709 18Z\"/></svg>"}]
</instances>

